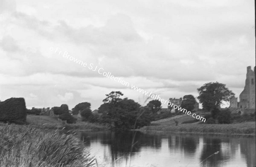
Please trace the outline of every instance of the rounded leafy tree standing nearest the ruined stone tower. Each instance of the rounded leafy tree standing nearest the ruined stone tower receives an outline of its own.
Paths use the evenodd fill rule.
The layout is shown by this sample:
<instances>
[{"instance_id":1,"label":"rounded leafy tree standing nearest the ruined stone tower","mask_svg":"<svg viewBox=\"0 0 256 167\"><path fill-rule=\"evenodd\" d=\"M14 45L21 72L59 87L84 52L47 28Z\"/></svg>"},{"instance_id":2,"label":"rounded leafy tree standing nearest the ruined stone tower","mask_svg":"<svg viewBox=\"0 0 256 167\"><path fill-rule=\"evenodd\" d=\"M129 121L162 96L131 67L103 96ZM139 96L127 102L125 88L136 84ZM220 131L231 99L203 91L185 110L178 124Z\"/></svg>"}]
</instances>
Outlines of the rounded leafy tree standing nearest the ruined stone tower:
<instances>
[{"instance_id":1,"label":"rounded leafy tree standing nearest the ruined stone tower","mask_svg":"<svg viewBox=\"0 0 256 167\"><path fill-rule=\"evenodd\" d=\"M218 82L205 83L197 90L199 93L198 100L203 105L203 109L211 112L215 108L220 108L222 102L229 101L229 98L235 95L226 88L225 84Z\"/></svg>"}]
</instances>

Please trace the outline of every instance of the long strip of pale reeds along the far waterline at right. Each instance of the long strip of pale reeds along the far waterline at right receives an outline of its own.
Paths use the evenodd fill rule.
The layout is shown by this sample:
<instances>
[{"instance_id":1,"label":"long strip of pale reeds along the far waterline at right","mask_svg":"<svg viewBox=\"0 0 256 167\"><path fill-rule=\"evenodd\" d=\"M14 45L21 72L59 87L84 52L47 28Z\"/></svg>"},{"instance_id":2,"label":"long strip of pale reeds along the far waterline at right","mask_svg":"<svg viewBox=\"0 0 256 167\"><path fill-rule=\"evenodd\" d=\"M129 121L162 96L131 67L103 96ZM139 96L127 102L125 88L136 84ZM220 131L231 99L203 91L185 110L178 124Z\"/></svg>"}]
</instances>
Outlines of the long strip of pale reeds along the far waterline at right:
<instances>
[{"instance_id":1,"label":"long strip of pale reeds along the far waterline at right","mask_svg":"<svg viewBox=\"0 0 256 167\"><path fill-rule=\"evenodd\" d=\"M255 122L243 122L237 124L180 124L155 125L140 128L143 132L182 132L182 133L206 133L229 135L255 135Z\"/></svg>"}]
</instances>

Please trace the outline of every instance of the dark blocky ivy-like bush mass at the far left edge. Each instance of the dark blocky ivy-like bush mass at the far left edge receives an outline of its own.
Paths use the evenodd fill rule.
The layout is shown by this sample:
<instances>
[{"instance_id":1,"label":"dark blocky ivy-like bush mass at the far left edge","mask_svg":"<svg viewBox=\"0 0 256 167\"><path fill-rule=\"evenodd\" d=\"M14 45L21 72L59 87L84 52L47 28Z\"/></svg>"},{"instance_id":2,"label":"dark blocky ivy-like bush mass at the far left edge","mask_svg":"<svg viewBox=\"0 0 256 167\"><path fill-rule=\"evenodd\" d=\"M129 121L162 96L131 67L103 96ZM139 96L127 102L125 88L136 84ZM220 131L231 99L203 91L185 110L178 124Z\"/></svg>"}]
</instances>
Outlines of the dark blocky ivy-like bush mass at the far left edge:
<instances>
[{"instance_id":1,"label":"dark blocky ivy-like bush mass at the far left edge","mask_svg":"<svg viewBox=\"0 0 256 167\"><path fill-rule=\"evenodd\" d=\"M26 122L26 104L24 98L9 98L0 102L0 121Z\"/></svg>"}]
</instances>

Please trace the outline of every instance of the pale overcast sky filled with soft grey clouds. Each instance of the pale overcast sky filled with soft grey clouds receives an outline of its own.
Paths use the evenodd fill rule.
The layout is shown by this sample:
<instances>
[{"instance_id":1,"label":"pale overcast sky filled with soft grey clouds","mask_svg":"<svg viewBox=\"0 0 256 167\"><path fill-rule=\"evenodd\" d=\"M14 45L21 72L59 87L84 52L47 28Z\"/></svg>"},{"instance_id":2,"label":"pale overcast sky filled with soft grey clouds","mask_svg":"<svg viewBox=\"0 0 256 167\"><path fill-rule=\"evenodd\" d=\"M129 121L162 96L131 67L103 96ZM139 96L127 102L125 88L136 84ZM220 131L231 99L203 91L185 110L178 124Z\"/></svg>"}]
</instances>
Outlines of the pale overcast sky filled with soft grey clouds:
<instances>
[{"instance_id":1,"label":"pale overcast sky filled with soft grey clouds","mask_svg":"<svg viewBox=\"0 0 256 167\"><path fill-rule=\"evenodd\" d=\"M238 97L255 66L254 1L0 0L0 100L97 109L112 90L147 98L57 48L166 100L211 81Z\"/></svg>"}]
</instances>

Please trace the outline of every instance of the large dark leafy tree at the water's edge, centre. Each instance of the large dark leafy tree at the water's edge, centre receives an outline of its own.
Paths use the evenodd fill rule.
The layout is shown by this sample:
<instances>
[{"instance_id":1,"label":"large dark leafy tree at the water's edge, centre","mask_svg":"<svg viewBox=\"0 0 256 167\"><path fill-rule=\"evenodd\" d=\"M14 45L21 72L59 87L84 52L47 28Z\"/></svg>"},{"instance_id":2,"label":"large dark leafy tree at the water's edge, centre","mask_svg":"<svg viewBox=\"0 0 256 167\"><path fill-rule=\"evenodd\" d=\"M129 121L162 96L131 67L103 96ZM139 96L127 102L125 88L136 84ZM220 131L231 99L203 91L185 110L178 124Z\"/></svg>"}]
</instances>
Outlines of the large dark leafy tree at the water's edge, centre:
<instances>
[{"instance_id":1,"label":"large dark leafy tree at the water's edge, centre","mask_svg":"<svg viewBox=\"0 0 256 167\"><path fill-rule=\"evenodd\" d=\"M150 124L145 110L132 99L124 98L121 92L111 92L99 107L103 123L110 124L115 130L128 130Z\"/></svg>"}]
</instances>

